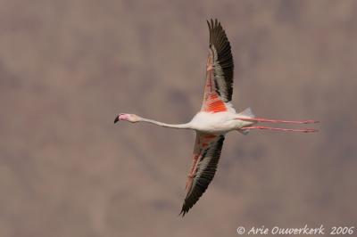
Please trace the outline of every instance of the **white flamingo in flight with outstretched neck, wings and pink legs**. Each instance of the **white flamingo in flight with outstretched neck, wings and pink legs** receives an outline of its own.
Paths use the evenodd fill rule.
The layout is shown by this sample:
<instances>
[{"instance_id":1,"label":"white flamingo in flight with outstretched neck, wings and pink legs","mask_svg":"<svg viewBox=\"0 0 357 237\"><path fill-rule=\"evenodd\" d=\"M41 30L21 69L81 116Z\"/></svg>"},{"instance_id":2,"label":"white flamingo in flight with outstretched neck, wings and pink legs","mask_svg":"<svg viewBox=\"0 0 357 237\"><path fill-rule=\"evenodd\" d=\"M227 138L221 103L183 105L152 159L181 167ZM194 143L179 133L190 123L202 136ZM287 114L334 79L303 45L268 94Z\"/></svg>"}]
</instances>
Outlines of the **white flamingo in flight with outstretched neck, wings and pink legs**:
<instances>
[{"instance_id":1,"label":"white flamingo in flight with outstretched neck, wings and pink legs","mask_svg":"<svg viewBox=\"0 0 357 237\"><path fill-rule=\"evenodd\" d=\"M278 120L256 118L250 108L237 113L231 104L233 93L233 57L225 30L220 22L207 20L210 33L209 53L206 62L206 80L201 110L185 124L167 124L153 119L145 119L135 114L120 113L114 124L120 120L131 123L146 122L160 127L195 130L195 147L192 165L186 182L186 197L181 212L187 214L206 191L216 173L225 135L238 131L246 135L253 129L269 129L311 133L312 128L280 128L258 126L258 123L312 124L315 120Z\"/></svg>"}]
</instances>

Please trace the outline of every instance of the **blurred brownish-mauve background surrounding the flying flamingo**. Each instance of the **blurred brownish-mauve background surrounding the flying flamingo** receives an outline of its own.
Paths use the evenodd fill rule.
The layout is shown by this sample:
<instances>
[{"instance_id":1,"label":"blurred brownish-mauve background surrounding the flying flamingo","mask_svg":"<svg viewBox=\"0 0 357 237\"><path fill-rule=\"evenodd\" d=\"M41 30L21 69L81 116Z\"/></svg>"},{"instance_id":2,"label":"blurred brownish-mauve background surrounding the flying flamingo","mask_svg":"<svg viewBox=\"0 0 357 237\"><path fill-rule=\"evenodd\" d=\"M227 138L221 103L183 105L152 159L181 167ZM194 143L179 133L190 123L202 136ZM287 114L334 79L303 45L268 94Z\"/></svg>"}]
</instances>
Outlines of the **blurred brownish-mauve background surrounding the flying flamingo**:
<instances>
[{"instance_id":1,"label":"blurred brownish-mauve background surrounding the flying flamingo","mask_svg":"<svg viewBox=\"0 0 357 237\"><path fill-rule=\"evenodd\" d=\"M186 217L208 29L233 104L318 119L317 134L230 133ZM0 236L237 236L240 225L357 225L356 1L0 1Z\"/></svg>"}]
</instances>

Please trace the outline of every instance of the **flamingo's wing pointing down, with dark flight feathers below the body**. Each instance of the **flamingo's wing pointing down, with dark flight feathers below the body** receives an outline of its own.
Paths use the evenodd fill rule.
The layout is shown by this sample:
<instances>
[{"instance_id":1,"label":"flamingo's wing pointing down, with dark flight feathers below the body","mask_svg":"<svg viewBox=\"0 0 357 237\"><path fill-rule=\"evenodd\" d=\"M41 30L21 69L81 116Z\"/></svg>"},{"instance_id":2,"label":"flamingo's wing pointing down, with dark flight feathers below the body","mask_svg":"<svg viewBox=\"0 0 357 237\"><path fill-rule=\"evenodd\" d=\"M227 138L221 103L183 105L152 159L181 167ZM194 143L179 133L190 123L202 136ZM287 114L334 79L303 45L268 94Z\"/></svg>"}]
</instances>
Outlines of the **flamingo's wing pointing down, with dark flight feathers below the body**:
<instances>
[{"instance_id":1,"label":"flamingo's wing pointing down, with dark flight feathers below the body","mask_svg":"<svg viewBox=\"0 0 357 237\"><path fill-rule=\"evenodd\" d=\"M224 135L204 135L197 133L194 160L187 179L187 195L182 205L182 217L206 191L216 173Z\"/></svg>"}]
</instances>

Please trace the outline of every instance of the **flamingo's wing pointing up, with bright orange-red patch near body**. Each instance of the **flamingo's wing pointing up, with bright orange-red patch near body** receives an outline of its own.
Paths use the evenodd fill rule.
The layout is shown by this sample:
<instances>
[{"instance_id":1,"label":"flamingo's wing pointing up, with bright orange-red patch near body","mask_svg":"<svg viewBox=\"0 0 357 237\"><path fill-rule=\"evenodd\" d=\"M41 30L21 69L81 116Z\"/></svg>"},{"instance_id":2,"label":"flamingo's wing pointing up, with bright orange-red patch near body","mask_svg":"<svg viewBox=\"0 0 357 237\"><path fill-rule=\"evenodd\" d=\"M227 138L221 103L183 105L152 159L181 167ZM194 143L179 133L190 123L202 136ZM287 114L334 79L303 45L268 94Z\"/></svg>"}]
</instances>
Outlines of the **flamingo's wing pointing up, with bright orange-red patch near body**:
<instances>
[{"instance_id":1,"label":"flamingo's wing pointing up, with bright orange-red patch near body","mask_svg":"<svg viewBox=\"0 0 357 237\"><path fill-rule=\"evenodd\" d=\"M226 111L227 102L233 93L233 57L230 44L220 22L208 21L210 30L210 50L206 65L206 83L204 86L201 110L210 112Z\"/></svg>"}]
</instances>

